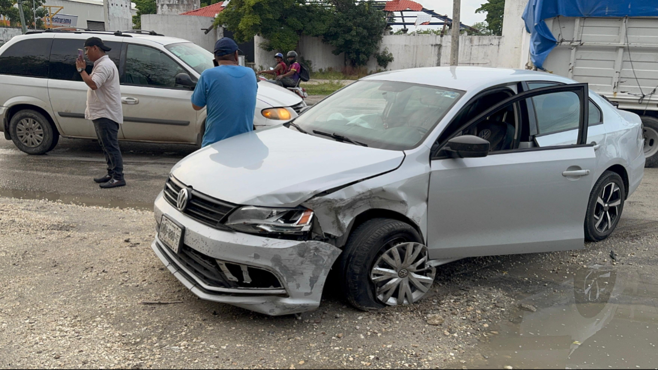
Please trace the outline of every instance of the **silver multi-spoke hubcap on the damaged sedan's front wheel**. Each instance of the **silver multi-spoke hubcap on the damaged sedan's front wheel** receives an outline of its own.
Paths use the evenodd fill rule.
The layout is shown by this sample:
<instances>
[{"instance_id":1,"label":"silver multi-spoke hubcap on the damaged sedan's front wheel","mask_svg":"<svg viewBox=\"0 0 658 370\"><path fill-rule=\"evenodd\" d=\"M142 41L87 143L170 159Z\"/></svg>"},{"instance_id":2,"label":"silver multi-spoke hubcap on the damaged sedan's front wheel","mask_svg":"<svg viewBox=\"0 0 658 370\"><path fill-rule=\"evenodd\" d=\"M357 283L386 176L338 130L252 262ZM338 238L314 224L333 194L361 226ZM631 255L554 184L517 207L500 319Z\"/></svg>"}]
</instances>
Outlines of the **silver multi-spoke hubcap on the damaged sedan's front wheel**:
<instances>
[{"instance_id":1,"label":"silver multi-spoke hubcap on the damaged sedan's front wheel","mask_svg":"<svg viewBox=\"0 0 658 370\"><path fill-rule=\"evenodd\" d=\"M377 299L395 306L412 304L422 298L436 275L436 268L427 262L427 247L420 243L396 244L386 250L370 271Z\"/></svg>"}]
</instances>

